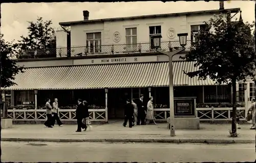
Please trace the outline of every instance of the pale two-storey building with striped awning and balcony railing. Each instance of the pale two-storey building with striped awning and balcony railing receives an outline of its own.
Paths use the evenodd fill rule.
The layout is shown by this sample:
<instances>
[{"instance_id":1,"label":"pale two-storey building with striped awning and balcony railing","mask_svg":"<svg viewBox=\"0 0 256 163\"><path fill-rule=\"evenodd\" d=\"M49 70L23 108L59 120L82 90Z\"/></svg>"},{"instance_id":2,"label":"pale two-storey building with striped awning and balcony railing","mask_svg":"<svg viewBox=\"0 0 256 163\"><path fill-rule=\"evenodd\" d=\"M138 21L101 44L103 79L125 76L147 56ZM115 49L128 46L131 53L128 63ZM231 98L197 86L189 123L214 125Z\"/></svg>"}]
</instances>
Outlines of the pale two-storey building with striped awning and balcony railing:
<instances>
[{"instance_id":1,"label":"pale two-storey building with striped awning and balcony railing","mask_svg":"<svg viewBox=\"0 0 256 163\"><path fill-rule=\"evenodd\" d=\"M5 90L10 91L13 108L30 106L38 110L32 116L36 120L40 120L39 116L44 119L39 108L47 98L59 99L62 120L74 118L72 105L78 98L92 105L91 118L95 121L122 118L126 99L139 99L140 94L145 100L153 96L156 118L166 120L168 58L156 52L152 36L161 35L160 48L169 51L181 47L177 34L188 33L186 50L173 58L174 96L196 97L198 108L228 107L232 102L230 87L217 85L210 78L188 77L183 70L196 70L195 62L179 57L196 41L204 21L214 14L239 11L240 8L224 9L223 2L219 10L96 20L90 20L89 11L83 11L83 20L59 23L56 49L32 49L32 58L19 59L18 64L26 70L15 76L17 85ZM197 113L201 119L212 118L202 110ZM230 110L220 119L230 119Z\"/></svg>"}]
</instances>

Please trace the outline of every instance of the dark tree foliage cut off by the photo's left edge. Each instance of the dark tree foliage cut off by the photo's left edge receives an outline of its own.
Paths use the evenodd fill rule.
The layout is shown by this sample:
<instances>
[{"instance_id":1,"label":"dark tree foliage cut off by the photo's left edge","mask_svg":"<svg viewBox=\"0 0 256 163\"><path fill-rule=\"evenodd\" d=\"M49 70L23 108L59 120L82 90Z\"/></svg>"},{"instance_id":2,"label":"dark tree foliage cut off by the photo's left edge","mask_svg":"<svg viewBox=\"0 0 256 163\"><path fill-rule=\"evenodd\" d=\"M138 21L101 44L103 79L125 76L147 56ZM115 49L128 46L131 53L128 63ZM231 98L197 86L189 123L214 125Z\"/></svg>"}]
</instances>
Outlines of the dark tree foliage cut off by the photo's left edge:
<instances>
[{"instance_id":1,"label":"dark tree foliage cut off by the photo's left edge","mask_svg":"<svg viewBox=\"0 0 256 163\"><path fill-rule=\"evenodd\" d=\"M1 88L6 88L16 85L13 82L14 77L17 73L23 72L24 67L16 65L17 61L14 59L17 44L5 41L3 36L3 34L0 35Z\"/></svg>"}]
</instances>

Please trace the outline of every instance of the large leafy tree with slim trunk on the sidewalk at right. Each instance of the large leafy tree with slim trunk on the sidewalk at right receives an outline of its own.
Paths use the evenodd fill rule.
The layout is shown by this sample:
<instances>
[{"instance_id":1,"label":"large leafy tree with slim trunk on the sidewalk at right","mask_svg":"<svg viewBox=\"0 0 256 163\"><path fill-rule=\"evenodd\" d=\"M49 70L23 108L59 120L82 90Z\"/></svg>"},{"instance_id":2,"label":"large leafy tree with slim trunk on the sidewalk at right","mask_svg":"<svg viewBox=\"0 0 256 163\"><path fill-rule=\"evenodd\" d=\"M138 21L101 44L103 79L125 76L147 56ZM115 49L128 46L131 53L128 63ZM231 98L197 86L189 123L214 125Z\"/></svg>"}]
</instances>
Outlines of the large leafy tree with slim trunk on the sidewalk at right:
<instances>
[{"instance_id":1,"label":"large leafy tree with slim trunk on the sidewalk at right","mask_svg":"<svg viewBox=\"0 0 256 163\"><path fill-rule=\"evenodd\" d=\"M215 15L205 28L197 35L197 42L193 43L191 50L183 59L196 61L195 67L199 69L186 72L189 77L207 77L218 84L232 85L232 128L231 137L237 137L236 128L236 82L244 80L246 76L254 76L254 40L251 34L253 25L239 21L231 21L230 13Z\"/></svg>"}]
</instances>

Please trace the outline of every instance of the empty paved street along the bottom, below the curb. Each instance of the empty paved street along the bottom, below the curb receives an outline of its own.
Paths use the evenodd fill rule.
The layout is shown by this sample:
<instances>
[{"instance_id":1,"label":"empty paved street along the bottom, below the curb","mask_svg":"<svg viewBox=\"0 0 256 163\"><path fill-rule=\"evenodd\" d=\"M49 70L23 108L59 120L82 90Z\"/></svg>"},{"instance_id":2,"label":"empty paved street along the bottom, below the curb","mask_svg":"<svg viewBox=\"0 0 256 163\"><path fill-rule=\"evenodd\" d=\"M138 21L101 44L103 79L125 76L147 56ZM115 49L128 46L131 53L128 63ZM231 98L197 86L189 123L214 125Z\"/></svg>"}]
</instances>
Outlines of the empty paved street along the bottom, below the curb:
<instances>
[{"instance_id":1,"label":"empty paved street along the bottom, below the curb","mask_svg":"<svg viewBox=\"0 0 256 163\"><path fill-rule=\"evenodd\" d=\"M254 144L2 142L2 161L22 162L202 162L251 161Z\"/></svg>"}]
</instances>

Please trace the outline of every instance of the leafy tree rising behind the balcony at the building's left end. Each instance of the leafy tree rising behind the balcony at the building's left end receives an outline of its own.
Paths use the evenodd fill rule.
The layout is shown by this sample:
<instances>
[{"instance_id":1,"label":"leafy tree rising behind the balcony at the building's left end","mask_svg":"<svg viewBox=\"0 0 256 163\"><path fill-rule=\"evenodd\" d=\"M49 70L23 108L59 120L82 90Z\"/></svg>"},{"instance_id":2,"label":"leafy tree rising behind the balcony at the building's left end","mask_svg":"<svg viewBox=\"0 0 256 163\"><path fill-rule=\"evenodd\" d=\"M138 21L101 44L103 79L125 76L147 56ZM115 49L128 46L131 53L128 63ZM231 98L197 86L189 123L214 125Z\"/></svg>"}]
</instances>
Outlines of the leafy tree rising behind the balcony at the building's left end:
<instances>
[{"instance_id":1,"label":"leafy tree rising behind the balcony at the building's left end","mask_svg":"<svg viewBox=\"0 0 256 163\"><path fill-rule=\"evenodd\" d=\"M52 20L44 21L42 17L38 17L36 22L28 22L28 36L20 36L22 40L18 41L22 53L19 58L56 56L56 36L51 27Z\"/></svg>"}]
</instances>

